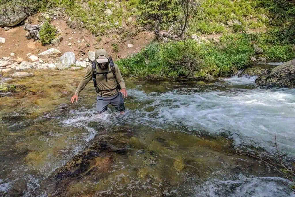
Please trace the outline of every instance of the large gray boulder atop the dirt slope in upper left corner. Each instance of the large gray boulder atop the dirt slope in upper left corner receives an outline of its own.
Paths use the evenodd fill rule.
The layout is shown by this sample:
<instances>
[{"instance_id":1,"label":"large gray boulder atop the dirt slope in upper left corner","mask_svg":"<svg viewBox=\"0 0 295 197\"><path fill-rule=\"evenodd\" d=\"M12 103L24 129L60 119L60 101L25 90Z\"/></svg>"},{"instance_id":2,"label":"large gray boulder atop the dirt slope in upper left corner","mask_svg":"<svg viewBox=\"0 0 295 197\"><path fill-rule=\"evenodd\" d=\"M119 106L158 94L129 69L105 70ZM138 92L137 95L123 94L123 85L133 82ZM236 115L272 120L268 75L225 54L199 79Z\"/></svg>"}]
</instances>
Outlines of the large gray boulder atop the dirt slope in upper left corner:
<instances>
[{"instance_id":1,"label":"large gray boulder atop the dirt slope in upper left corner","mask_svg":"<svg viewBox=\"0 0 295 197\"><path fill-rule=\"evenodd\" d=\"M25 6L1 6L0 7L0 27L13 27L24 21L31 10Z\"/></svg>"}]
</instances>

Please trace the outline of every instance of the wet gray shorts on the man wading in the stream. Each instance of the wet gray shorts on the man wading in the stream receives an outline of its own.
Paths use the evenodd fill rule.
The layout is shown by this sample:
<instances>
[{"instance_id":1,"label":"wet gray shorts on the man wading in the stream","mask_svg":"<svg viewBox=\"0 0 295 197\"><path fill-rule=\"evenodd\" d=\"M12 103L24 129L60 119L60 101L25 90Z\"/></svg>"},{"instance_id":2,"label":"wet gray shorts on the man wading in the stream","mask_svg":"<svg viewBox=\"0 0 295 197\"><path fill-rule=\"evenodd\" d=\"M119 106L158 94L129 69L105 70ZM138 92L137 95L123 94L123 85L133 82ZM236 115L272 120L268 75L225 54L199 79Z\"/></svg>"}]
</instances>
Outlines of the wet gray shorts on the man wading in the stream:
<instances>
[{"instance_id":1,"label":"wet gray shorts on the man wading in the stream","mask_svg":"<svg viewBox=\"0 0 295 197\"><path fill-rule=\"evenodd\" d=\"M101 97L97 95L96 110L99 113L107 111L109 104L113 105L116 108L117 112L121 112L125 110L124 99L122 97L121 92L119 92L119 95L114 95L111 97Z\"/></svg>"}]
</instances>

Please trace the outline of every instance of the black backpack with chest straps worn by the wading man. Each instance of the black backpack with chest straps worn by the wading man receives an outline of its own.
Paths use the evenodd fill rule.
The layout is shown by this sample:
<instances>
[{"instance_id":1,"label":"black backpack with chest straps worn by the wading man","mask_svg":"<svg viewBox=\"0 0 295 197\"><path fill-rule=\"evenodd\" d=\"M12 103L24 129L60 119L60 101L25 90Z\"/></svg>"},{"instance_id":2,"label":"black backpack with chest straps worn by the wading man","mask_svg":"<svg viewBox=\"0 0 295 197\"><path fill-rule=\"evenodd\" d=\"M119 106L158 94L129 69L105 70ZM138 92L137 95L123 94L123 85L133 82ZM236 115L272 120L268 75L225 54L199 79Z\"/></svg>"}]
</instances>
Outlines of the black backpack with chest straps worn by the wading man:
<instances>
[{"instance_id":1,"label":"black backpack with chest straps worn by the wading man","mask_svg":"<svg viewBox=\"0 0 295 197\"><path fill-rule=\"evenodd\" d=\"M120 86L120 84L117 81L117 77L116 77L116 73L115 73L115 65L114 65L113 59L111 57L109 57L109 62L110 62L111 71L106 71L106 72L102 72L102 73L97 73L96 72L96 64L95 64L95 61L92 62L92 79L93 79L93 84L94 84L95 91L97 93L99 93L99 92L111 92L114 89L117 89L117 91L118 91L118 89L119 90L121 89L121 86ZM105 78L106 78L106 81L107 81L108 79L107 79L107 76L106 75L109 74L110 72L113 73L114 78L115 78L115 80L117 82L117 86L115 88L113 88L113 89L107 89L107 90L101 90L101 89L99 89L97 87L97 83L96 83L96 75L97 74L103 74L105 76Z\"/></svg>"}]
</instances>

